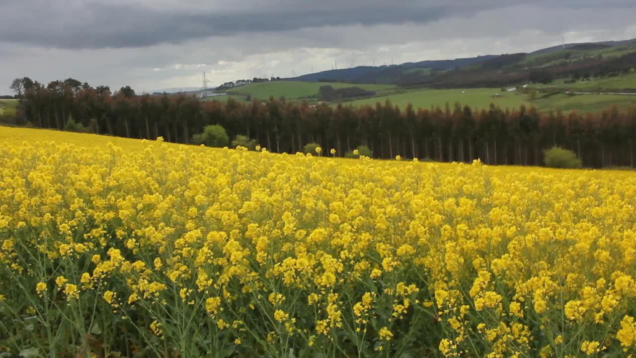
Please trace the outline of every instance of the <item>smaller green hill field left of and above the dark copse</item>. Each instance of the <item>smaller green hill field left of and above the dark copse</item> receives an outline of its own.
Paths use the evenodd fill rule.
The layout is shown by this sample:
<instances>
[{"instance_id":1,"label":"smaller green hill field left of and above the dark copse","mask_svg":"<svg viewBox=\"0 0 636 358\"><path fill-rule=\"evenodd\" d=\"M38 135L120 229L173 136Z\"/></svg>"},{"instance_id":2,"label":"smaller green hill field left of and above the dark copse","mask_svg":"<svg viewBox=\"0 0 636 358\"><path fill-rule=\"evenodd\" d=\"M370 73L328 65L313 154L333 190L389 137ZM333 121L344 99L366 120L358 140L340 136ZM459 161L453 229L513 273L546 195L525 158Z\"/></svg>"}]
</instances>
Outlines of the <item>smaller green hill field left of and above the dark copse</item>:
<instances>
[{"instance_id":1,"label":"smaller green hill field left of and above the dark copse","mask_svg":"<svg viewBox=\"0 0 636 358\"><path fill-rule=\"evenodd\" d=\"M394 89L392 85L353 85L351 83L340 82L298 82L298 81L275 81L250 83L229 90L228 94L240 94L251 96L252 99L266 101L274 98L285 97L286 99L303 99L307 97L317 97L321 86L329 85L335 89L345 87L360 87L361 89L373 90L376 92Z\"/></svg>"}]
</instances>

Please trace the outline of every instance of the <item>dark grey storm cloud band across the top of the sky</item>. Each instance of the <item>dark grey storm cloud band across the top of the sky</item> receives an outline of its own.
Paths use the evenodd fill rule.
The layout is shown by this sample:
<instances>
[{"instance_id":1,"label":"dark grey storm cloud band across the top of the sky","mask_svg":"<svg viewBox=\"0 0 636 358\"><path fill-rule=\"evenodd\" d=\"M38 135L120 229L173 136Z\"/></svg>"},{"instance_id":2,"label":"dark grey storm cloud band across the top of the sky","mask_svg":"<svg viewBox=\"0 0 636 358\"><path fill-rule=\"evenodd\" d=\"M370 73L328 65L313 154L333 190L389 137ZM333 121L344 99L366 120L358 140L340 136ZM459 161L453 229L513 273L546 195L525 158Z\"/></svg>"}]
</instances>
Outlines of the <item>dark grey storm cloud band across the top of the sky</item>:
<instances>
[{"instance_id":1,"label":"dark grey storm cloud band across the top of the sky","mask_svg":"<svg viewBox=\"0 0 636 358\"><path fill-rule=\"evenodd\" d=\"M282 32L308 27L425 24L528 1L190 1L107 3L78 0L0 1L0 42L53 48L147 47L208 36ZM636 7L633 1L560 1L539 6ZM524 21L532 19L522 19Z\"/></svg>"}]
</instances>

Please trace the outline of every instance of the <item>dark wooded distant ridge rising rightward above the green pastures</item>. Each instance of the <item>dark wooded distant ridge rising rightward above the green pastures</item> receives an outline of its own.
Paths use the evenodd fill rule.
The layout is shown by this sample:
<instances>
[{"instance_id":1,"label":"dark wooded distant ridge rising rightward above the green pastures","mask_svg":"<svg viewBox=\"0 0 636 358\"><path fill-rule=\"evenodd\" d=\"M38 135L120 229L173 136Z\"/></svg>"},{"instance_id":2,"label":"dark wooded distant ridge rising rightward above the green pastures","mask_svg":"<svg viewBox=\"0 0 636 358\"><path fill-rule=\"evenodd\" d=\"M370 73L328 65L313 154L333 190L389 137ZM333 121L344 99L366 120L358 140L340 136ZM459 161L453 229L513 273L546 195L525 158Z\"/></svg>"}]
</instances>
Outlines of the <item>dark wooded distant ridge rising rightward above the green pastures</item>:
<instances>
[{"instance_id":1,"label":"dark wooded distant ridge rising rightward above the green pastures","mask_svg":"<svg viewBox=\"0 0 636 358\"><path fill-rule=\"evenodd\" d=\"M382 83L403 87L499 87L523 82L532 71L558 77L574 71L602 73L635 66L636 39L569 43L530 53L485 55L466 59L406 62L391 66L358 66L288 78L301 82ZM624 63L619 59L625 57ZM633 56L636 57L636 56ZM422 71L418 71L422 69Z\"/></svg>"}]
</instances>

